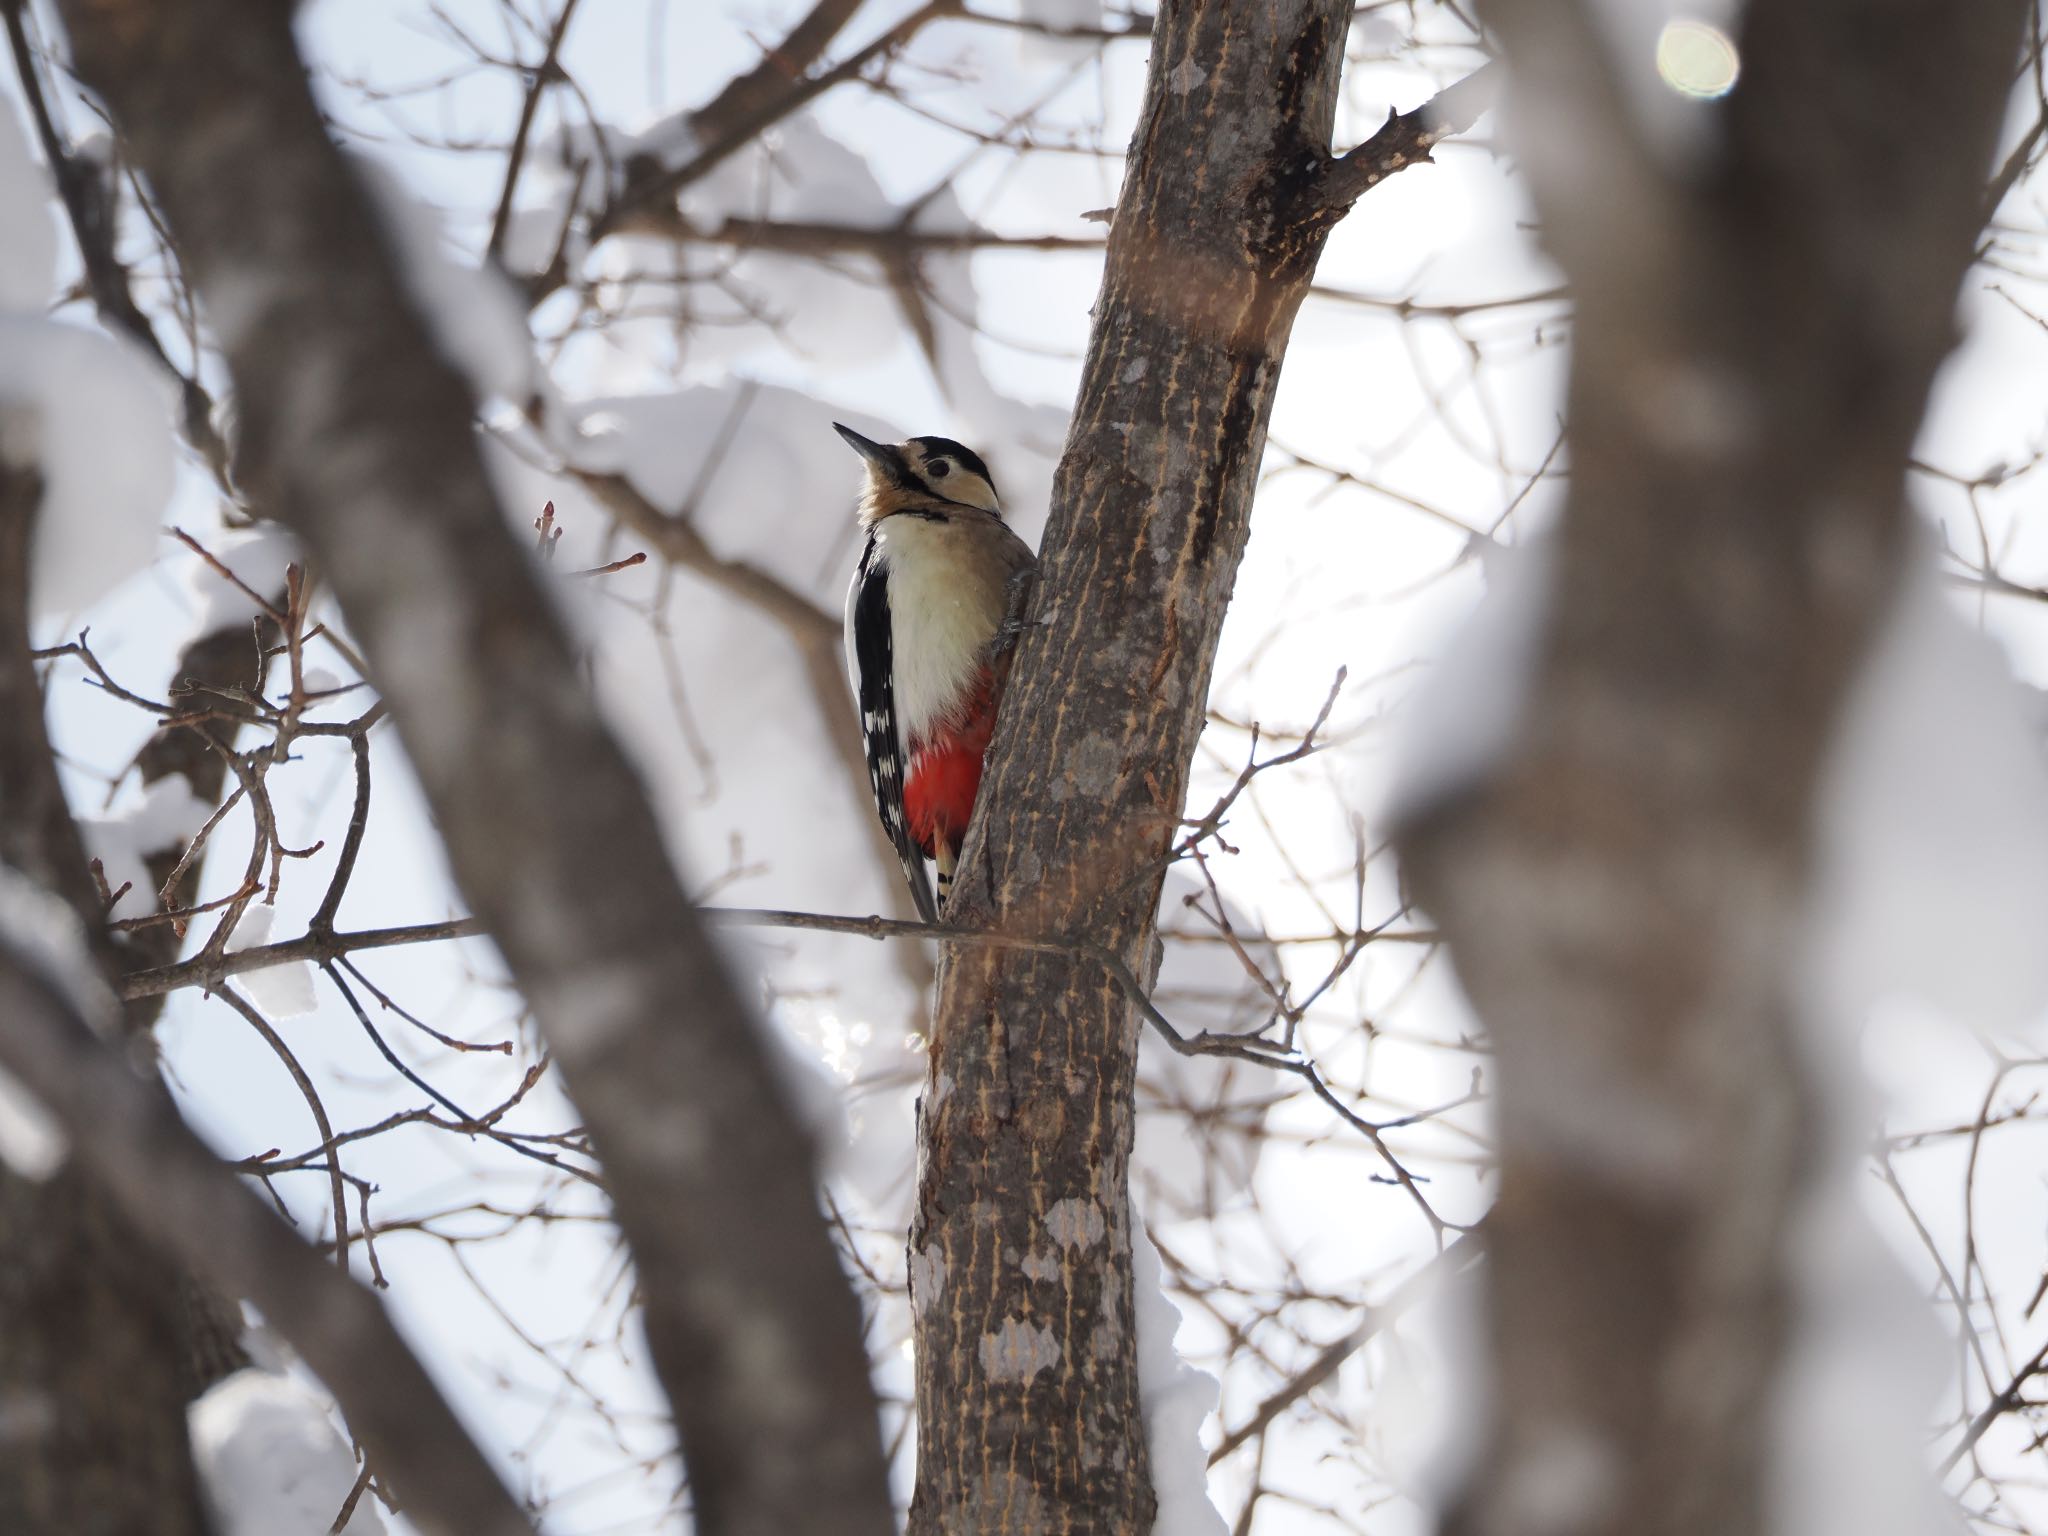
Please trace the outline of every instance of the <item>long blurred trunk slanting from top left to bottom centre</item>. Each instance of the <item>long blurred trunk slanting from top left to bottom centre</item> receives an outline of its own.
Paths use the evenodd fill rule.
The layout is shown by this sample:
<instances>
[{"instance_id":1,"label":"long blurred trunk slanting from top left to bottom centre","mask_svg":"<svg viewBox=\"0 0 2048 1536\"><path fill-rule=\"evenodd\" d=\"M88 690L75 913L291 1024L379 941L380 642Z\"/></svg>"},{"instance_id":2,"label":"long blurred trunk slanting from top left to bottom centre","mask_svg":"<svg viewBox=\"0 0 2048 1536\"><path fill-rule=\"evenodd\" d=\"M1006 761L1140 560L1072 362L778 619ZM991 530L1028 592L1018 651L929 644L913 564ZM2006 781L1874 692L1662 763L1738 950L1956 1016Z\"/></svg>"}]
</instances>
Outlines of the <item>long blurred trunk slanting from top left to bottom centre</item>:
<instances>
[{"instance_id":1,"label":"long blurred trunk slanting from top left to bottom centre","mask_svg":"<svg viewBox=\"0 0 2048 1536\"><path fill-rule=\"evenodd\" d=\"M860 1317L807 1137L578 680L285 6L70 0L236 383L238 481L305 535L457 883L604 1163L702 1532L887 1532Z\"/></svg>"}]
</instances>

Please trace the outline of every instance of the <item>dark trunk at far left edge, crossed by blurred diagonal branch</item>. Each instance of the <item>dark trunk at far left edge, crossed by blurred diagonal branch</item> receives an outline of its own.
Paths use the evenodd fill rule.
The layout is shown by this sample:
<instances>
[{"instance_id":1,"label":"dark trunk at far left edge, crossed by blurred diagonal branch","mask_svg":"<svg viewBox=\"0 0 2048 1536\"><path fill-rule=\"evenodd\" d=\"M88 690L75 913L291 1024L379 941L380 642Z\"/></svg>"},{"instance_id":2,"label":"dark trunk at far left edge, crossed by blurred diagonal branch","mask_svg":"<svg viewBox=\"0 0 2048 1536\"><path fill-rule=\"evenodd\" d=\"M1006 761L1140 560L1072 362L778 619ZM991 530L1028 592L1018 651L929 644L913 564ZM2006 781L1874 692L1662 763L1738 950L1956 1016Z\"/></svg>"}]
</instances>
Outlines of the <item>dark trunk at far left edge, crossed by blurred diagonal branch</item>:
<instances>
[{"instance_id":1,"label":"dark trunk at far left edge, crossed by blurred diagonal branch","mask_svg":"<svg viewBox=\"0 0 2048 1536\"><path fill-rule=\"evenodd\" d=\"M98 897L43 733L29 655L29 537L41 485L0 461L0 862L57 893L109 977ZM0 1016L0 1030L8 1028ZM184 1438L178 1270L74 1165L0 1163L0 1530L201 1536Z\"/></svg>"}]
</instances>

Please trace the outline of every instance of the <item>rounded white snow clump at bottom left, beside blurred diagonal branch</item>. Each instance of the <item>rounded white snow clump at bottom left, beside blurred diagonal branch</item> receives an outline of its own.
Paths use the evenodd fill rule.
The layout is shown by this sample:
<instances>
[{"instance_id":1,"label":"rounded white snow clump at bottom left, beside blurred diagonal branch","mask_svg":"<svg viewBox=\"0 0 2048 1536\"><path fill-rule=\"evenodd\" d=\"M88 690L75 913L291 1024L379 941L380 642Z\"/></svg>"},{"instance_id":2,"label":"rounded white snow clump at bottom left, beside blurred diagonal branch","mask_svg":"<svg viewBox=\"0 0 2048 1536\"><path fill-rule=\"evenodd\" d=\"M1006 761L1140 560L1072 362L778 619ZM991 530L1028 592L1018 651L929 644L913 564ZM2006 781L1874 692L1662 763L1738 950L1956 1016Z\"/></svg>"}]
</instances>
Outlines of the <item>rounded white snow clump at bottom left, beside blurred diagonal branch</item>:
<instances>
[{"instance_id":1,"label":"rounded white snow clump at bottom left, beside blurred diagonal branch","mask_svg":"<svg viewBox=\"0 0 2048 1536\"><path fill-rule=\"evenodd\" d=\"M328 1536L356 1485L356 1460L328 1405L274 1370L217 1382L188 1409L193 1464L219 1536ZM383 1536L365 1493L342 1536Z\"/></svg>"}]
</instances>

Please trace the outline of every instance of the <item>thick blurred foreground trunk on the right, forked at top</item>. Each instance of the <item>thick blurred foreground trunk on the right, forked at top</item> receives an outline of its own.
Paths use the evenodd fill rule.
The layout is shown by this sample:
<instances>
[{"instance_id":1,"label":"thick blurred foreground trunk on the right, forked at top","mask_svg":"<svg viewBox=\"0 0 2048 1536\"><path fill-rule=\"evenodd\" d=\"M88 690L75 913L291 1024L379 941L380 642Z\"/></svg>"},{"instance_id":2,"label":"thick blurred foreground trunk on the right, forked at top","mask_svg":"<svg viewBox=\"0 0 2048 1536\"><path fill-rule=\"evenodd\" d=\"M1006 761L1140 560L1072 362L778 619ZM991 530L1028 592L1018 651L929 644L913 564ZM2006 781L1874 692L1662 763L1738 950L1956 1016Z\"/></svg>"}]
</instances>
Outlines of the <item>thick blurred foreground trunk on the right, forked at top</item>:
<instances>
[{"instance_id":1,"label":"thick blurred foreground trunk on the right, forked at top","mask_svg":"<svg viewBox=\"0 0 2048 1536\"><path fill-rule=\"evenodd\" d=\"M1401 838L1499 1053L1491 1442L1444 1530L1745 1536L1817 1116L1817 774L1896 590L2021 6L1755 0L1690 164L1595 10L1485 8L1579 295L1571 492L1516 739Z\"/></svg>"}]
</instances>

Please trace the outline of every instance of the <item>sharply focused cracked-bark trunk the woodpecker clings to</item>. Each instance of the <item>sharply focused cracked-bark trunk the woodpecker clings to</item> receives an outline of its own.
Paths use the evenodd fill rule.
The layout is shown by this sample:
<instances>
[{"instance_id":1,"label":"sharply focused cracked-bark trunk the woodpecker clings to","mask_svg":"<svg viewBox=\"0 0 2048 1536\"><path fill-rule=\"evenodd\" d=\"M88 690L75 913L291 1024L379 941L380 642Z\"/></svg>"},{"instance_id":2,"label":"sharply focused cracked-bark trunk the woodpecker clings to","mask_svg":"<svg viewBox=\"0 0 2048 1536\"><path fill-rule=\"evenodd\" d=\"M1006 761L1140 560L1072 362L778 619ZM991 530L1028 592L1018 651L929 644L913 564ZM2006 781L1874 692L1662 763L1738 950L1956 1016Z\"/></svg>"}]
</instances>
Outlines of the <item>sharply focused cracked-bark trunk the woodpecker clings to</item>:
<instances>
[{"instance_id":1,"label":"sharply focused cracked-bark trunk the woodpecker clings to","mask_svg":"<svg viewBox=\"0 0 2048 1536\"><path fill-rule=\"evenodd\" d=\"M1217 635L1319 195L1350 4L1165 4L950 922L1153 967ZM1137 1030L1087 961L944 956L911 1227L915 1536L1147 1532L1130 1311Z\"/></svg>"}]
</instances>

